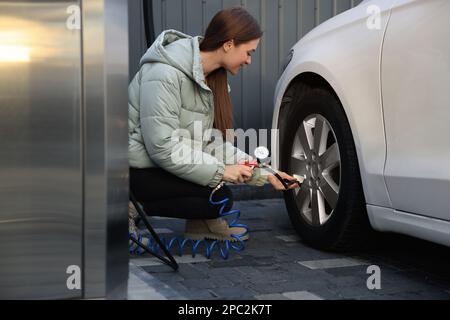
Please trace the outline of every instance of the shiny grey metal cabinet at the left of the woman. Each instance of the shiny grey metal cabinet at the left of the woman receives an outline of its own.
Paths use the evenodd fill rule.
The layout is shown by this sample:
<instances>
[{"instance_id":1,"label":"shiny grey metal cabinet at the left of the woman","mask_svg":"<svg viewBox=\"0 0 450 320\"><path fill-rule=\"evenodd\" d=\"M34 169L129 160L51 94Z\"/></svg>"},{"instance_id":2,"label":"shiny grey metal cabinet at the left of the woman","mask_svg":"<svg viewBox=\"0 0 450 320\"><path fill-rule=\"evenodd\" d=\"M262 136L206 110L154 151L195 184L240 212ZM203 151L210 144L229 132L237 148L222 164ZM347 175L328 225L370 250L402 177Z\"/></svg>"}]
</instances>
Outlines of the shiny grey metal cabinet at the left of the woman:
<instances>
[{"instance_id":1,"label":"shiny grey metal cabinet at the left of the woman","mask_svg":"<svg viewBox=\"0 0 450 320\"><path fill-rule=\"evenodd\" d=\"M125 296L126 6L0 1L1 299Z\"/></svg>"}]
</instances>

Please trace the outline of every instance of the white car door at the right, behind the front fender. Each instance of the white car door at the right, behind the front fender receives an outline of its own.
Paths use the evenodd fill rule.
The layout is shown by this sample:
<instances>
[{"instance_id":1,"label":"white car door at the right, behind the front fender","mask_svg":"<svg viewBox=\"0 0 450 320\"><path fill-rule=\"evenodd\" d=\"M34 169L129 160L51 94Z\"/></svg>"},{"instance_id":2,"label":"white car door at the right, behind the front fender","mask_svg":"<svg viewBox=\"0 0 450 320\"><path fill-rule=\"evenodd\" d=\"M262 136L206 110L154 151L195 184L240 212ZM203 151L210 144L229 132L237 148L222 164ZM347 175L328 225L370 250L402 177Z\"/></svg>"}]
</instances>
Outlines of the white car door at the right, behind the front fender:
<instances>
[{"instance_id":1,"label":"white car door at the right, behind the front fender","mask_svg":"<svg viewBox=\"0 0 450 320\"><path fill-rule=\"evenodd\" d=\"M450 1L398 0L382 52L394 209L450 220Z\"/></svg>"}]
</instances>

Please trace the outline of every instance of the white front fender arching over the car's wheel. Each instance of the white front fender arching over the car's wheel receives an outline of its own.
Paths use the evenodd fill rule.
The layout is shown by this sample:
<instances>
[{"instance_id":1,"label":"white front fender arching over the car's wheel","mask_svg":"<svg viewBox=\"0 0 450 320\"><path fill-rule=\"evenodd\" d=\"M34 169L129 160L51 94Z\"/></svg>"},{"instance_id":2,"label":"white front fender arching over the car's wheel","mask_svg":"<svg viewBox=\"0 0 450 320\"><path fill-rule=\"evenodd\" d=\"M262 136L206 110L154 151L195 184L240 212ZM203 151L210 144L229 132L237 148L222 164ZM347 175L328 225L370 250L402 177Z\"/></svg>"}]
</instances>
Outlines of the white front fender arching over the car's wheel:
<instances>
[{"instance_id":1,"label":"white front fender arching over the car's wheel","mask_svg":"<svg viewBox=\"0 0 450 320\"><path fill-rule=\"evenodd\" d=\"M390 207L384 182L386 142L380 87L380 55L393 1L366 1L318 26L294 47L294 56L275 91L273 128L278 128L282 98L300 74L312 72L334 89L347 114L358 154L368 204ZM369 29L367 8L381 9L380 28ZM326 45L324 45L326 43ZM331 55L330 52L333 52ZM359 59L349 57L357 56ZM351 70L351 72L349 72ZM272 159L279 167L278 145Z\"/></svg>"}]
</instances>

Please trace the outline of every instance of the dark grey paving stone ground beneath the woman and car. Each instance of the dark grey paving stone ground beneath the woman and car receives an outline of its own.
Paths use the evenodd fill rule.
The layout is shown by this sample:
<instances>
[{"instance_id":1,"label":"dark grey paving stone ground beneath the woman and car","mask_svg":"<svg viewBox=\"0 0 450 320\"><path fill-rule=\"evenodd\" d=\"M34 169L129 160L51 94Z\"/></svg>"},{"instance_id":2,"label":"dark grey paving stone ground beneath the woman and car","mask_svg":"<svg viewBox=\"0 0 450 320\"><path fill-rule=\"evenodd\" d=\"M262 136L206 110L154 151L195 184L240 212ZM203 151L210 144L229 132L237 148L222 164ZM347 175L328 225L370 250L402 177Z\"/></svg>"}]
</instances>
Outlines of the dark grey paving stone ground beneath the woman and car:
<instances>
[{"instance_id":1,"label":"dark grey paving stone ground beneath the woman and car","mask_svg":"<svg viewBox=\"0 0 450 320\"><path fill-rule=\"evenodd\" d=\"M238 201L234 208L251 230L245 250L228 260L217 251L211 259L175 255L177 272L149 255L131 256L128 298L450 299L447 247L379 234L376 248L363 253L323 252L296 236L282 199ZM150 221L166 237L183 234L184 220ZM370 265L380 268L381 289L368 289Z\"/></svg>"}]
</instances>

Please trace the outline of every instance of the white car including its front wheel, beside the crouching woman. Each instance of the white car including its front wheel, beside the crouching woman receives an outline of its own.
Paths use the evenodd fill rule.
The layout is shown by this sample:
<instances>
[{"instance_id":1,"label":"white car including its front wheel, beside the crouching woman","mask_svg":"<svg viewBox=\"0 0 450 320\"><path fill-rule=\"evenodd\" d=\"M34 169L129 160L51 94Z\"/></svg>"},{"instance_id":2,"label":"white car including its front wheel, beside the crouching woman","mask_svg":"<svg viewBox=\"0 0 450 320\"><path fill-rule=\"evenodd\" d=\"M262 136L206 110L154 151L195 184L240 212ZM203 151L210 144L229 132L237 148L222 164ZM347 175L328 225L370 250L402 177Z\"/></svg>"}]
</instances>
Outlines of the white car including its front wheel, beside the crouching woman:
<instances>
[{"instance_id":1,"label":"white car including its front wheel, beside the crouching woman","mask_svg":"<svg viewBox=\"0 0 450 320\"><path fill-rule=\"evenodd\" d=\"M291 49L275 90L274 168L300 237L373 230L450 246L450 1L366 0Z\"/></svg>"}]
</instances>

